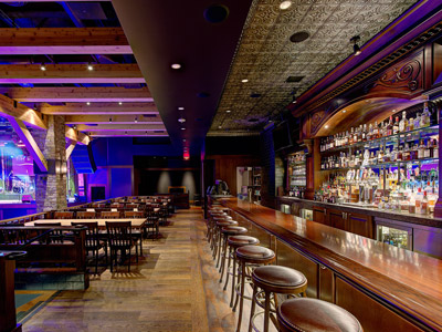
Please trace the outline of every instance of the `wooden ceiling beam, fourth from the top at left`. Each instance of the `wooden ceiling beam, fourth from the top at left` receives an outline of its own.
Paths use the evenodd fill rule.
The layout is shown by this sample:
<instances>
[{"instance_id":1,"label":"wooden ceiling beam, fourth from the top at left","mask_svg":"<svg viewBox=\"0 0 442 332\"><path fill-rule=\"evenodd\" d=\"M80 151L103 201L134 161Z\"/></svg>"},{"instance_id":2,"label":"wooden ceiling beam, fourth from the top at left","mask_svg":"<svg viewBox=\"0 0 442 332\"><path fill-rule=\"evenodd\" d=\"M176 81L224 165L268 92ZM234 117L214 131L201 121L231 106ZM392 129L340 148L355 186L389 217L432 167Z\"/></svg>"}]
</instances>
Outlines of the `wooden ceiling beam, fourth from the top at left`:
<instances>
[{"instance_id":1,"label":"wooden ceiling beam, fourth from the top at left","mask_svg":"<svg viewBox=\"0 0 442 332\"><path fill-rule=\"evenodd\" d=\"M52 106L44 103L39 107L43 114L52 115L75 115L75 114L88 114L88 115L117 115L117 114L131 114L131 115L158 115L159 112L155 103L69 103L64 106Z\"/></svg>"}]
</instances>

